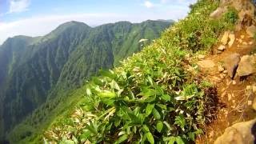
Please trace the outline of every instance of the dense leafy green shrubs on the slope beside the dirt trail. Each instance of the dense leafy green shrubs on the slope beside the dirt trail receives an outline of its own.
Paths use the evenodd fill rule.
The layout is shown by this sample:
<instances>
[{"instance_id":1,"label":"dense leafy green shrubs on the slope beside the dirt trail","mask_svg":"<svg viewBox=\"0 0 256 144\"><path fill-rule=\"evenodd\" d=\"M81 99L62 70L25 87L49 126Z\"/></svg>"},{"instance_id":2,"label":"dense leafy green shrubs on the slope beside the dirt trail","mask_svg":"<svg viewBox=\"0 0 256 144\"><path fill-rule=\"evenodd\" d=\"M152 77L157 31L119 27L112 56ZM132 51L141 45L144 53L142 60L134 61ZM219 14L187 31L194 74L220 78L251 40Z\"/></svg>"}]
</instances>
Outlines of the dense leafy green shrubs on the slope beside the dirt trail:
<instances>
[{"instance_id":1,"label":"dense leafy green shrubs on the slope beside the dirt trail","mask_svg":"<svg viewBox=\"0 0 256 144\"><path fill-rule=\"evenodd\" d=\"M57 119L45 142L188 143L213 118L215 90L196 71L193 56L210 52L234 21L215 20L214 0L199 0L187 18L142 52L86 84L82 104ZM191 57L190 57L190 56Z\"/></svg>"}]
</instances>

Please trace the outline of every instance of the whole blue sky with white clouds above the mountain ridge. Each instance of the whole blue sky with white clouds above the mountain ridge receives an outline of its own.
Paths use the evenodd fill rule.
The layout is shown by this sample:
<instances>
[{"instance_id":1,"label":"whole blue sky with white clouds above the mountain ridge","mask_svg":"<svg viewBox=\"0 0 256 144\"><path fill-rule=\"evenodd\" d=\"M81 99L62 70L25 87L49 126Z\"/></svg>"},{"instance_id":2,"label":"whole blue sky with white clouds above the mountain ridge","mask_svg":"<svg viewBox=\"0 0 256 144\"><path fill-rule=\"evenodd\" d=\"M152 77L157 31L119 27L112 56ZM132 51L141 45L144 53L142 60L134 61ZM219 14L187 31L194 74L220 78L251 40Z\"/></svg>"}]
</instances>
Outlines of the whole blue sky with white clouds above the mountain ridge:
<instances>
[{"instance_id":1,"label":"whole blue sky with white clouds above the mountain ridge","mask_svg":"<svg viewBox=\"0 0 256 144\"><path fill-rule=\"evenodd\" d=\"M0 44L14 35L41 36L63 22L184 18L196 0L0 0Z\"/></svg>"}]
</instances>

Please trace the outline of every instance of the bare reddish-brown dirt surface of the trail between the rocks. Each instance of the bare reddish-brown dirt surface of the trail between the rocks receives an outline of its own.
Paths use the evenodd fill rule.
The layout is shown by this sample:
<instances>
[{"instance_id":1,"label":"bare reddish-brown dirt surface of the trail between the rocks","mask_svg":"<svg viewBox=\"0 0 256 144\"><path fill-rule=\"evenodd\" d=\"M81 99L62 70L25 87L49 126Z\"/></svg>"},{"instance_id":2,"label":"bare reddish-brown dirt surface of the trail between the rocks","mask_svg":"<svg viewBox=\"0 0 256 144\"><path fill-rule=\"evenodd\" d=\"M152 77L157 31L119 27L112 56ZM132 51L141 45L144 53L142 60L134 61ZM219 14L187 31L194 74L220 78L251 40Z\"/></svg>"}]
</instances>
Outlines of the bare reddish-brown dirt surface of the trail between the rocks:
<instances>
[{"instance_id":1,"label":"bare reddish-brown dirt surface of the trail between the rocks","mask_svg":"<svg viewBox=\"0 0 256 144\"><path fill-rule=\"evenodd\" d=\"M242 42L247 42L247 46L242 46L242 44L236 40L233 46L224 50L222 54L212 54L205 58L214 61L215 66L210 70L202 69L202 75L217 86L220 104L218 106L216 119L206 126L206 134L198 138L196 143L214 143L228 126L236 122L250 120L256 116L256 112L248 105L248 101L252 101L254 95L247 96L248 94L246 94L246 86L255 84L256 76L252 75L246 79L235 77L234 81L236 84L233 84L229 76L226 75L225 78L221 78L221 73L218 71L218 65L230 54L238 53L242 56L251 54L255 50L254 38L248 38L245 30L236 32L235 38L241 38L241 35L245 36ZM249 42L253 42L253 44L249 45ZM217 50L218 46L216 46L214 50Z\"/></svg>"}]
</instances>

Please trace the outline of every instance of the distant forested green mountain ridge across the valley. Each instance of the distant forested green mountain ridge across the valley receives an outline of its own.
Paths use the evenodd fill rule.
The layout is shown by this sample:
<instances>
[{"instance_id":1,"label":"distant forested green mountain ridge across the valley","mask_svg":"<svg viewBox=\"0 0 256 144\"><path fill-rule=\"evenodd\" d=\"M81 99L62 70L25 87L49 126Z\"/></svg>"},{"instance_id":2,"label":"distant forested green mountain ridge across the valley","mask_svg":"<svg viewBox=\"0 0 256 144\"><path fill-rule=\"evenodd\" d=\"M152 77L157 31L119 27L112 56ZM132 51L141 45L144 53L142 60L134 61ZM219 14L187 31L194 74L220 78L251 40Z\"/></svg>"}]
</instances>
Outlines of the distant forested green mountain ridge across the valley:
<instances>
[{"instance_id":1,"label":"distant forested green mountain ridge across the valley","mask_svg":"<svg viewBox=\"0 0 256 144\"><path fill-rule=\"evenodd\" d=\"M149 43L167 26L170 22L117 22L94 28L66 22L43 37L8 38L0 46L1 138L40 106L53 110L63 94L141 50L146 42L140 39Z\"/></svg>"}]
</instances>

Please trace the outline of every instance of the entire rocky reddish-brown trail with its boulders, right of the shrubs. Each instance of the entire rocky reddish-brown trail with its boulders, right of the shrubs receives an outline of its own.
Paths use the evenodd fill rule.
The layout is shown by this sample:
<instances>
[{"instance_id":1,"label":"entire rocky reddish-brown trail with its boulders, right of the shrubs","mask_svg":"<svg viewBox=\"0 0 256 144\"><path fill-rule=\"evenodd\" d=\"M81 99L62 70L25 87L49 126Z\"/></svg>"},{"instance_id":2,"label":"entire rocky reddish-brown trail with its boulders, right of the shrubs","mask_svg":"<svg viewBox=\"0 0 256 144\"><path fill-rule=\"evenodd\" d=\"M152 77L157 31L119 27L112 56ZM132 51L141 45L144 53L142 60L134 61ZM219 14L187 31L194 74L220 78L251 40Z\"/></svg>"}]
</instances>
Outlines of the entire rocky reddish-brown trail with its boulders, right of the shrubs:
<instances>
[{"instance_id":1,"label":"entire rocky reddish-brown trail with its boulders, right of the shrubs","mask_svg":"<svg viewBox=\"0 0 256 144\"><path fill-rule=\"evenodd\" d=\"M222 34L212 54L198 56L202 76L218 90L218 113L197 143L254 143L256 138L256 27L254 15L241 7L235 7L240 11L236 29Z\"/></svg>"}]
</instances>

